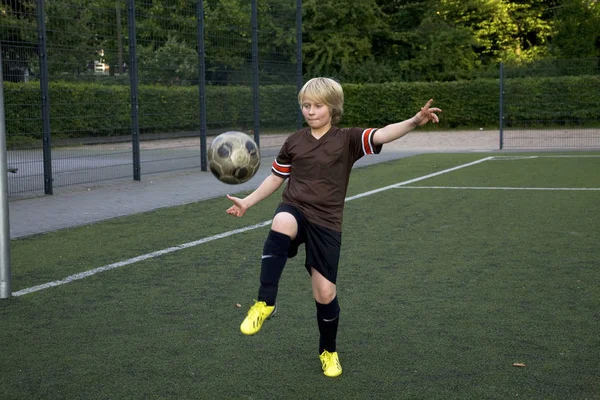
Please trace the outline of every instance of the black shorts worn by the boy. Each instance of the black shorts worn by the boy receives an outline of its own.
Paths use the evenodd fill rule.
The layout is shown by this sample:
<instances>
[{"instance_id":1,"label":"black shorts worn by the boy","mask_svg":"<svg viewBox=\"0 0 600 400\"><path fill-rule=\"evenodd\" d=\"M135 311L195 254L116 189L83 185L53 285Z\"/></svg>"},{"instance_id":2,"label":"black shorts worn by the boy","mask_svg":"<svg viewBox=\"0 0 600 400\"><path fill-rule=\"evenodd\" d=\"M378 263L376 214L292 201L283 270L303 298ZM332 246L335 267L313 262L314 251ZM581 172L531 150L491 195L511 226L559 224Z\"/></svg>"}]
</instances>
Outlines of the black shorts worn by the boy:
<instances>
[{"instance_id":1,"label":"black shorts worn by the boy","mask_svg":"<svg viewBox=\"0 0 600 400\"><path fill-rule=\"evenodd\" d=\"M292 214L298 223L298 234L290 243L288 257L295 257L298 254L298 247L304 243L306 249L304 267L308 273L311 273L312 267L325 279L335 284L340 262L342 233L309 222L300 210L289 204L280 204L275 210L275 215L280 212Z\"/></svg>"}]
</instances>

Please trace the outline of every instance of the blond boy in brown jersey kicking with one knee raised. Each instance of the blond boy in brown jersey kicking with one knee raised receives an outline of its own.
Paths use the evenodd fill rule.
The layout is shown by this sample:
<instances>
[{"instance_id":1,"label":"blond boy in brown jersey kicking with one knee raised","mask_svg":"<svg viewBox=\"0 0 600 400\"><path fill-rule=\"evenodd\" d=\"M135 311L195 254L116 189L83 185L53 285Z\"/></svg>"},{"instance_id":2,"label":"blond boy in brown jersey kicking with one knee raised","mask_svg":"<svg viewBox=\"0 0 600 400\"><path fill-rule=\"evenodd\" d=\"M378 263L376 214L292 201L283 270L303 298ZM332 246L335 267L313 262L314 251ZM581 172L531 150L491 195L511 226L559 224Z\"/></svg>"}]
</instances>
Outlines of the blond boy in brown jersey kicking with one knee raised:
<instances>
[{"instance_id":1,"label":"blond boy in brown jersey kicking with one knee raised","mask_svg":"<svg viewBox=\"0 0 600 400\"><path fill-rule=\"evenodd\" d=\"M340 307L336 277L342 242L342 213L352 165L362 156L378 154L384 143L417 126L439 122L433 100L414 117L381 129L337 128L343 114L344 92L330 78L313 78L298 93L308 128L290 135L273 162L271 175L247 197L227 195L236 217L273 194L289 179L275 211L263 248L258 301L250 308L240 330L254 335L276 311L279 278L288 258L305 245L305 267L311 276L319 328L319 359L323 373L342 373L336 351Z\"/></svg>"}]
</instances>

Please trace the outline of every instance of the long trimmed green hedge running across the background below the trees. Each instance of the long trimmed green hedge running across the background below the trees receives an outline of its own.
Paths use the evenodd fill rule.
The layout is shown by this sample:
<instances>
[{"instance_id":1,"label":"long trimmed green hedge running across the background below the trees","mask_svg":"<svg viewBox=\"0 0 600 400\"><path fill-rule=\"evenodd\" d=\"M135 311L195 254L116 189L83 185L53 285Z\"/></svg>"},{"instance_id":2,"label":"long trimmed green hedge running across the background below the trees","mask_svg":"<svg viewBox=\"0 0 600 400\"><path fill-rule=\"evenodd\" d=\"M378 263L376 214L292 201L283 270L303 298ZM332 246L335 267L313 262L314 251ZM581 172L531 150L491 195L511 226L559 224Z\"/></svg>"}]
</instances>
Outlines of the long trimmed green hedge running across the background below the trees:
<instances>
[{"instance_id":1,"label":"long trimmed green hedge running across the background below the trees","mask_svg":"<svg viewBox=\"0 0 600 400\"><path fill-rule=\"evenodd\" d=\"M529 126L557 121L598 123L600 76L519 78L505 82L505 120ZM498 127L499 81L345 84L343 126L384 126L414 115L429 98L444 110L441 129ZM41 100L38 82L4 83L9 144L39 138ZM207 88L209 128L252 127L252 91L247 86ZM295 85L264 86L259 93L261 127L293 129ZM130 134L128 86L50 83L53 138L126 136ZM142 134L197 131L197 87L139 87ZM533 123L532 123L533 121ZM523 122L525 123L525 122ZM573 122L577 123L577 122Z\"/></svg>"}]
</instances>

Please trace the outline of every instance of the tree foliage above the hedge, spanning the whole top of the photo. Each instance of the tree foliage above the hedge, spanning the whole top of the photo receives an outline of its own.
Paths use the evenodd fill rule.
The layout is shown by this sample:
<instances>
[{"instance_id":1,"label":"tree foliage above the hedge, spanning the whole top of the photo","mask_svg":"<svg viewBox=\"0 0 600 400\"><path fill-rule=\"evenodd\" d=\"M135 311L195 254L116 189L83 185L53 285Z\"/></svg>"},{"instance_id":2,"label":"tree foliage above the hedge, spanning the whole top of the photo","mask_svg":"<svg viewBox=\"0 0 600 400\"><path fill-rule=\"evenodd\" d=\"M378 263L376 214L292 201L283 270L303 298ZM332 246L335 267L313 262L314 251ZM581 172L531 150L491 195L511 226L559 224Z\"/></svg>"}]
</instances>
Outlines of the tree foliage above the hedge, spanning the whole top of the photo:
<instances>
[{"instance_id":1,"label":"tree foliage above the hedge, spanning the whole top of the photo","mask_svg":"<svg viewBox=\"0 0 600 400\"><path fill-rule=\"evenodd\" d=\"M94 61L127 62L126 0L46 0L51 74ZM157 82L197 80L196 0L136 0L141 74ZM0 5L5 58L35 68L36 2ZM259 59L295 62L295 1L258 0ZM206 70L231 81L251 61L248 0L204 0ZM304 0L306 76L346 82L452 81L499 62L600 57L599 0ZM16 50L28 43L28 61ZM25 48L25 47L23 47Z\"/></svg>"}]
</instances>

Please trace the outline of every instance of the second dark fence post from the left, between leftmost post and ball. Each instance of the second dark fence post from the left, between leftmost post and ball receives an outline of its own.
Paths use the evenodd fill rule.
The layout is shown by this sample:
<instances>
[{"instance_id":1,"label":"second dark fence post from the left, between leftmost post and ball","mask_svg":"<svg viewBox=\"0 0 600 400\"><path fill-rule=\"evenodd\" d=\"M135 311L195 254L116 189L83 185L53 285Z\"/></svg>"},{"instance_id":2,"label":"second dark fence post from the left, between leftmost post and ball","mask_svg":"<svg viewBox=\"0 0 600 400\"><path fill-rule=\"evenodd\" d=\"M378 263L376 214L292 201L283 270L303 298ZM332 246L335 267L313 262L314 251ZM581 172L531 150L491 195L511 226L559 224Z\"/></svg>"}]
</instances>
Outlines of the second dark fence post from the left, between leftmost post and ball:
<instances>
[{"instance_id":1,"label":"second dark fence post from the left, between leftmost post and ball","mask_svg":"<svg viewBox=\"0 0 600 400\"><path fill-rule=\"evenodd\" d=\"M138 76L135 32L135 0L127 0L127 24L129 25L129 82L131 88L131 147L133 152L133 179L141 180L140 122L138 99Z\"/></svg>"}]
</instances>

